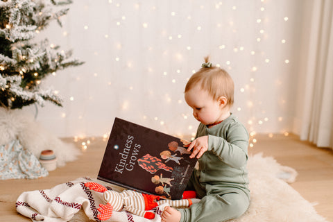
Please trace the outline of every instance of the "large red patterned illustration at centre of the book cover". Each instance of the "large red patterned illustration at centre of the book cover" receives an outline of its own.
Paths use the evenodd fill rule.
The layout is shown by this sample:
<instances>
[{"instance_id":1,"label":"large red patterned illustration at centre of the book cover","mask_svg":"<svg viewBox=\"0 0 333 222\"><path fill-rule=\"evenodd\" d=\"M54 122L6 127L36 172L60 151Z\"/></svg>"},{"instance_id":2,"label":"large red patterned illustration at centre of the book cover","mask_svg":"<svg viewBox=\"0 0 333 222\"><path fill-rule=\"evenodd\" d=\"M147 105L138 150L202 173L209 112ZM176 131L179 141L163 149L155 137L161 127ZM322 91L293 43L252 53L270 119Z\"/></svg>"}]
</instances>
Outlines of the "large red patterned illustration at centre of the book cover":
<instances>
[{"instance_id":1,"label":"large red patterned illustration at centre of the book cover","mask_svg":"<svg viewBox=\"0 0 333 222\"><path fill-rule=\"evenodd\" d=\"M157 157L153 157L150 154L144 155L142 158L137 160L139 162L139 166L142 169L145 169L149 173L156 173L159 169L164 169L164 171L172 172L172 167L168 167L166 164L162 162L162 160Z\"/></svg>"}]
</instances>

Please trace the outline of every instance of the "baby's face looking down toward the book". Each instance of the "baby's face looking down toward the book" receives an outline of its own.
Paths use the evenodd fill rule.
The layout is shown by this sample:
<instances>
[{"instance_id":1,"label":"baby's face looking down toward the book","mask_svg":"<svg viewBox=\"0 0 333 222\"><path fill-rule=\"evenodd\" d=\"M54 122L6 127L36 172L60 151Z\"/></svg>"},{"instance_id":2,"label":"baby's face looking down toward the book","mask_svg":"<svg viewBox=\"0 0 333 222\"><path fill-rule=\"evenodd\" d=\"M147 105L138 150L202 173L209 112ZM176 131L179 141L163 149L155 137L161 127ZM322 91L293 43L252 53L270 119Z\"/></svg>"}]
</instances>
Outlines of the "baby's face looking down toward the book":
<instances>
[{"instance_id":1,"label":"baby's face looking down toward the book","mask_svg":"<svg viewBox=\"0 0 333 222\"><path fill-rule=\"evenodd\" d=\"M201 123L208 125L221 121L223 108L206 91L197 84L185 93L185 101L193 109L193 116Z\"/></svg>"}]
</instances>

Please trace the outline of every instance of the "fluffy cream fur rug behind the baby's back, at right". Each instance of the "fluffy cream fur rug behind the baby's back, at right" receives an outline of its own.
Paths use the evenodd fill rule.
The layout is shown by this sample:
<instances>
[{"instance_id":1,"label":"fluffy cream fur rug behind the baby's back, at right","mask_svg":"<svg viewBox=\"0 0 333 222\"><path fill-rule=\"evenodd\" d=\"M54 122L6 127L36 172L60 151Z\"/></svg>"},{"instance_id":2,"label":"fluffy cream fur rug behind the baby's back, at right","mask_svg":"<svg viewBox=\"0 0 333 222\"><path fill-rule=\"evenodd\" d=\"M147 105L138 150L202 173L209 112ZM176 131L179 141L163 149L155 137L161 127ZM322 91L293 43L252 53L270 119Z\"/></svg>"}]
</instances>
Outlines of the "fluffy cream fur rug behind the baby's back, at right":
<instances>
[{"instance_id":1,"label":"fluffy cream fur rug behind the baby's back, at right","mask_svg":"<svg viewBox=\"0 0 333 222\"><path fill-rule=\"evenodd\" d=\"M250 156L248 171L250 207L243 216L228 222L328 222L317 214L311 203L288 185L288 182L296 179L297 172L294 169L281 166L273 157L263 157L262 153L259 153ZM87 219L81 210L71 221L91 220ZM111 218L110 221L127 220ZM144 218L140 221L149 222Z\"/></svg>"}]
</instances>

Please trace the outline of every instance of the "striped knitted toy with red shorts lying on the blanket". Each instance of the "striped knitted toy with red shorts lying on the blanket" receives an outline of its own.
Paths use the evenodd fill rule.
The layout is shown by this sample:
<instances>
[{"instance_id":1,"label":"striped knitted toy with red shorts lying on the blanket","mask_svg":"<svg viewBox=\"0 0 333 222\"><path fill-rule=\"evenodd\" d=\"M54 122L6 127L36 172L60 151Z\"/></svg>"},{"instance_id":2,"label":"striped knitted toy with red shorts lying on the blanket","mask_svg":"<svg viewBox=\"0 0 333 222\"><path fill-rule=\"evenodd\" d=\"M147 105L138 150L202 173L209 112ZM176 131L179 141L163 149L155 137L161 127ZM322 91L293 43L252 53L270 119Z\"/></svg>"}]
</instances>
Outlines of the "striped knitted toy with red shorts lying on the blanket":
<instances>
[{"instance_id":1,"label":"striped knitted toy with red shorts lying on the blanket","mask_svg":"<svg viewBox=\"0 0 333 222\"><path fill-rule=\"evenodd\" d=\"M155 214L148 212L162 203L169 203L173 207L189 207L192 204L191 199L195 198L196 194L191 191L185 191L182 200L160 200L160 196L154 196L149 194L142 194L137 191L124 190L122 192L110 191L103 185L96 182L86 182L85 187L89 189L103 193L103 198L106 205L100 204L98 211L101 212L97 217L101 221L106 221L112 216L112 212L126 210L132 214L138 216L144 216L146 219L153 219ZM193 191L194 192L194 191Z\"/></svg>"}]
</instances>

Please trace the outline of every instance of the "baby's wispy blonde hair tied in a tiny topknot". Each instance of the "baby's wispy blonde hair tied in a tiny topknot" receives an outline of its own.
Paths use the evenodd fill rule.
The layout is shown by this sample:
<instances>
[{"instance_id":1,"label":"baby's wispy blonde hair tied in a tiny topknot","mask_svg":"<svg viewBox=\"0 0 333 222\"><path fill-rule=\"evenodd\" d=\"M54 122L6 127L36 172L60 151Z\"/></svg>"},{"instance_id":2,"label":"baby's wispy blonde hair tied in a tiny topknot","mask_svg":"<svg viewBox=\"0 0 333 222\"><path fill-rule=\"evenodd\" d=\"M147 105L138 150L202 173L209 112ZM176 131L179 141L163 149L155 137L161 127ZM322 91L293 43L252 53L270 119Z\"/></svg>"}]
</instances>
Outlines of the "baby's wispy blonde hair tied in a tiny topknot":
<instances>
[{"instance_id":1,"label":"baby's wispy blonde hair tied in a tiny topknot","mask_svg":"<svg viewBox=\"0 0 333 222\"><path fill-rule=\"evenodd\" d=\"M197 84L201 88L207 90L214 100L218 100L221 96L227 99L227 105L232 107L234 103L234 81L227 71L216 66L205 66L210 58L205 57L203 67L189 78L185 87L185 93Z\"/></svg>"}]
</instances>

